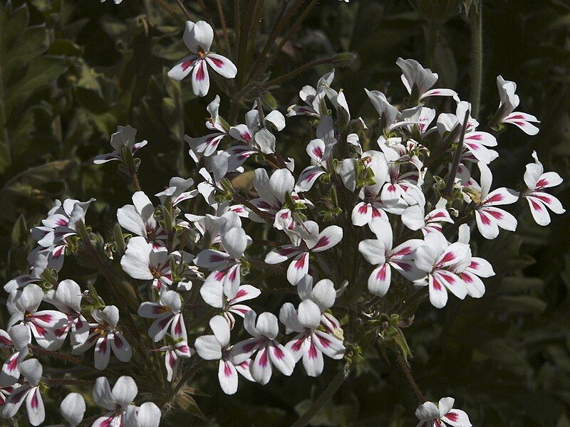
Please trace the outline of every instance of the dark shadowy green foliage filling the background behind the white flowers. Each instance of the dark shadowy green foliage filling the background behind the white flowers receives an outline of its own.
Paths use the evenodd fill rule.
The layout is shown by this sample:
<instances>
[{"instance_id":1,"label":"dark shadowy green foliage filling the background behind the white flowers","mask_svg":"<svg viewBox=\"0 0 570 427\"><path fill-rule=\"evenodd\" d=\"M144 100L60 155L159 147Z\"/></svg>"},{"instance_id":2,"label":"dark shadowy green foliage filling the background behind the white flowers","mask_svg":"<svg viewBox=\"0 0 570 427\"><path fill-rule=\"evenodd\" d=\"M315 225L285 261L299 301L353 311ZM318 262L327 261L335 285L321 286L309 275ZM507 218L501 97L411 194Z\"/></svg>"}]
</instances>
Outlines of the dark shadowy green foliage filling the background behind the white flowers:
<instances>
[{"instance_id":1,"label":"dark shadowy green foliage filling the background behind the white flowers","mask_svg":"<svg viewBox=\"0 0 570 427\"><path fill-rule=\"evenodd\" d=\"M169 3L175 9L175 1ZM222 3L233 17L235 2ZM427 9L439 6L430 15L418 3ZM197 2L185 4L202 17ZM216 17L214 2L206 4ZM279 4L265 1L259 43L271 29ZM443 4L457 6L452 10L458 13L445 19ZM517 82L521 109L541 120L537 137L514 128L501 135L501 157L492 165L495 185L517 186L524 164L537 149L545 169L565 179L556 196L569 209L570 5L565 0L489 0L482 7L478 119L484 123L496 110L495 78L502 74ZM395 66L398 56L431 65L440 74L440 85L455 88L467 99L471 41L466 8L464 1L321 0L284 44L271 73L277 76L336 52L357 53L355 63L337 70L334 85L346 91L353 115L362 115L369 124L375 112L363 88L383 90L394 100L405 95ZM439 23L430 23L430 16ZM231 30L232 18L228 25ZM430 49L428 34L435 25L439 36ZM181 33L182 26L153 0L124 0L118 6L95 0L1 2L3 283L25 270L33 244L28 228L45 216L53 199L95 196L88 224L109 236L115 210L130 202L132 189L116 164L95 167L92 159L109 151L117 125L130 124L138 130L138 140L149 141L140 152L140 181L147 194L160 191L170 176L195 173L182 136L204 135L205 107L217 88L212 83L207 97L199 99L192 95L190 81L180 85L165 75L185 55ZM329 68L321 65L274 88L271 93L280 109L297 102L299 89L314 85ZM224 101L222 97L222 114L227 115ZM279 136L287 154L304 153L309 137L301 122L290 120ZM497 271L486 280L486 295L462 302L452 298L439 311L424 304L405 330L414 354L413 374L428 399L454 396L475 426L570 426L569 232L568 214L541 228L524 210L516 238L506 232L492 242L478 238L478 253L492 260ZM80 282L93 273L66 264L64 276ZM5 297L0 295L2 304ZM4 323L4 308L1 316ZM338 364L327 362L316 380L297 369L291 379L277 376L263 388L240 381L232 397L221 393L213 370L204 371L192 387L200 392L195 399L207 421L189 420L190 415L173 409L165 425L289 425L336 373ZM393 359L390 362L375 349L368 352L366 362L314 425L413 426L415 398ZM58 401L61 393L52 389L46 401ZM48 413L46 423L51 421L59 421L56 412Z\"/></svg>"}]
</instances>

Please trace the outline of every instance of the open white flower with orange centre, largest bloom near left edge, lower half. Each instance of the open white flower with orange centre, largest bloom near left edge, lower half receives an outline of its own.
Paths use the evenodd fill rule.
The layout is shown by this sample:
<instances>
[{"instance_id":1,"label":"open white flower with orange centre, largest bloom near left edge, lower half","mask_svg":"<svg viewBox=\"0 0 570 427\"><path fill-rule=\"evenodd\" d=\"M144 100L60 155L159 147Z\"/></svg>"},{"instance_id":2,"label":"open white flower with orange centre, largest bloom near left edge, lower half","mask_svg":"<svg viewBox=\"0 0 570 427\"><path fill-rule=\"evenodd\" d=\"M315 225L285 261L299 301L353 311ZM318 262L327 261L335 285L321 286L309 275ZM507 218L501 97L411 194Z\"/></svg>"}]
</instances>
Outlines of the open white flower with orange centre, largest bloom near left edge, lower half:
<instances>
[{"instance_id":1,"label":"open white flower with orange centre, largest bloom near left edge, lower half","mask_svg":"<svg viewBox=\"0 0 570 427\"><path fill-rule=\"evenodd\" d=\"M43 290L33 283L10 292L6 303L11 315L8 325L26 325L40 347L58 349L63 344L63 338L58 337L55 331L68 324L67 316L56 310L38 311L42 300Z\"/></svg>"}]
</instances>

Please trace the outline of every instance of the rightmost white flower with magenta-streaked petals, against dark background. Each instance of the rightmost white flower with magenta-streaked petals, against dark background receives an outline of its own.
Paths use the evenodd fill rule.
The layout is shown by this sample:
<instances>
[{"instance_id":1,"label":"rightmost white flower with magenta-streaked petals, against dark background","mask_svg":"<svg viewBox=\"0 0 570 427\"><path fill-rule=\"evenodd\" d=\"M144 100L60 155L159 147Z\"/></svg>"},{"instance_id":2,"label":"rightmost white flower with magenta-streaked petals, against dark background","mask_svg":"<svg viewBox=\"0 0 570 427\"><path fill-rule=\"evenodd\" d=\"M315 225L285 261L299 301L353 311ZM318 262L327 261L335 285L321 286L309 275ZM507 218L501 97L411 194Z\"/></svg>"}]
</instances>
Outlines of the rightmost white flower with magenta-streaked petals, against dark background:
<instances>
[{"instance_id":1,"label":"rightmost white flower with magenta-streaked petals, against dark background","mask_svg":"<svg viewBox=\"0 0 570 427\"><path fill-rule=\"evenodd\" d=\"M527 184L527 189L522 191L521 197L529 202L534 221L537 221L539 226L547 226L550 223L550 215L546 207L554 214L564 214L566 209L562 207L559 199L546 193L544 189L562 184L562 179L556 172L544 172L537 152L533 151L532 157L534 163L527 164L527 170L524 172L524 184Z\"/></svg>"}]
</instances>

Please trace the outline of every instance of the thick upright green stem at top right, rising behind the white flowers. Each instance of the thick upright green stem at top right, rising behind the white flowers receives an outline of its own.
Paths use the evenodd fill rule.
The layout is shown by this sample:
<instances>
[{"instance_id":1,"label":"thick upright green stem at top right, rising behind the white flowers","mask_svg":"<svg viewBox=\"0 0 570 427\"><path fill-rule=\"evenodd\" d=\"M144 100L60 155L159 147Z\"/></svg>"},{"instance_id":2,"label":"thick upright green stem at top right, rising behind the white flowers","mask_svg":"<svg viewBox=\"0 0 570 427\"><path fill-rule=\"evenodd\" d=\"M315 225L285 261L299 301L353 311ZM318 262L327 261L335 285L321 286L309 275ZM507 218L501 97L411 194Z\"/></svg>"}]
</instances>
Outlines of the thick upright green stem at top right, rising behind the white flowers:
<instances>
[{"instance_id":1,"label":"thick upright green stem at top right, rising behind the white flowers","mask_svg":"<svg viewBox=\"0 0 570 427\"><path fill-rule=\"evenodd\" d=\"M471 115L477 119L481 102L481 88L483 78L483 32L481 0L473 2L470 16L471 26Z\"/></svg>"}]
</instances>

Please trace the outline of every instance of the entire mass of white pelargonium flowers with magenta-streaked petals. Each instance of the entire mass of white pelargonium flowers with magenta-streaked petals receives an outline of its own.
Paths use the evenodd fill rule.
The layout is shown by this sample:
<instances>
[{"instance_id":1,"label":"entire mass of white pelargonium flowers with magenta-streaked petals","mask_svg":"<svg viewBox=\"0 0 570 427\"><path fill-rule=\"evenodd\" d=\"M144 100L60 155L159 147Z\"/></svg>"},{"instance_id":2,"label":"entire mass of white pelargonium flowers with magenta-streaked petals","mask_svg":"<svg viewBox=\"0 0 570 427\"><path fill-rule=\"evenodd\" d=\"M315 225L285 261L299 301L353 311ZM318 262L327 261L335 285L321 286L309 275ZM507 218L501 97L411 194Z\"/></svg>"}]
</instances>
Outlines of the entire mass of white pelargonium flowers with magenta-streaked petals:
<instances>
[{"instance_id":1,"label":"entire mass of white pelargonium flowers with magenta-streaked petals","mask_svg":"<svg viewBox=\"0 0 570 427\"><path fill-rule=\"evenodd\" d=\"M191 54L169 73L176 80L191 73L196 95L209 90L208 67L225 78L237 73L209 50L212 36L204 21L188 21ZM393 102L366 90L374 123L351 115L343 90L333 89L334 70L304 86L304 105L291 105L286 115L254 102L244 123L232 124L215 97L207 107L212 133L185 137L195 176L172 178L154 200L136 191L132 204L117 209L113 237L104 243L85 223L93 200L56 201L31 230L38 247L28 257L30 273L4 286L11 317L0 344L11 356L1 372L1 415L15 416L25 400L30 423L43 422L42 386L66 384L43 375L38 359L46 352L104 374L93 386L100 406L93 426L157 426L157 404L174 401L204 365L214 362L227 394L237 392L239 376L267 384L300 369L301 360L308 376L321 374L324 356L344 359L349 369L371 342L388 339L385 324L392 322L400 339L390 348L406 356L398 326L403 300L429 296L441 309L450 293L482 297L482 279L494 271L475 256L470 224L487 239L514 231L517 218L504 208L520 199L537 223L548 224L549 210L564 212L546 192L561 178L544 172L533 152L520 189L492 189L494 130L512 124L538 131L535 117L514 112L514 83L497 78L499 110L481 130L469 102L433 88L437 74L412 59L397 64L409 96ZM442 97L446 102L437 101ZM451 110L433 108L450 103ZM276 135L288 120L306 121L305 158L281 154ZM145 144L135 143L132 127L119 127L113 152L94 162L117 160L136 176L133 155ZM232 185L248 172L254 197ZM88 260L97 281L60 280L64 258ZM125 362L134 378L116 377ZM137 396L149 378L163 389L154 401L145 401L152 390ZM453 403L425 402L418 426L471 426ZM61 402L72 426L85 411L79 394Z\"/></svg>"}]
</instances>

